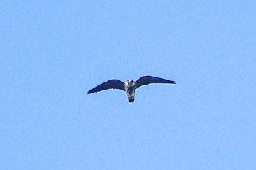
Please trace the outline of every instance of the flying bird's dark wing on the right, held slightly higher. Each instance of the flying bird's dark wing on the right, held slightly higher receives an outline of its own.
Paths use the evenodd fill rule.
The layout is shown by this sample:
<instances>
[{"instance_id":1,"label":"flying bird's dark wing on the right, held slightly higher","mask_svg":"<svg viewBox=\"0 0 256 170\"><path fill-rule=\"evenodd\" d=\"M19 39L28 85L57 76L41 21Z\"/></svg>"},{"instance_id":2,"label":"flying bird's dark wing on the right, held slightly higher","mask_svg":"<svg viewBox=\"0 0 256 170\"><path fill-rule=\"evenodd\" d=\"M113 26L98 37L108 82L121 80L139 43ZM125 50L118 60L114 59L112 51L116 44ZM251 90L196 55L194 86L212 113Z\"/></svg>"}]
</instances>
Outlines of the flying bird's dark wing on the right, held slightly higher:
<instances>
[{"instance_id":1,"label":"flying bird's dark wing on the right, held slightly higher","mask_svg":"<svg viewBox=\"0 0 256 170\"><path fill-rule=\"evenodd\" d=\"M140 88L142 85L148 85L151 83L170 83L170 84L175 84L174 81L172 80L166 80L162 79L159 77L153 77L153 76L143 76L140 77L136 82L135 82L135 88Z\"/></svg>"}]
</instances>

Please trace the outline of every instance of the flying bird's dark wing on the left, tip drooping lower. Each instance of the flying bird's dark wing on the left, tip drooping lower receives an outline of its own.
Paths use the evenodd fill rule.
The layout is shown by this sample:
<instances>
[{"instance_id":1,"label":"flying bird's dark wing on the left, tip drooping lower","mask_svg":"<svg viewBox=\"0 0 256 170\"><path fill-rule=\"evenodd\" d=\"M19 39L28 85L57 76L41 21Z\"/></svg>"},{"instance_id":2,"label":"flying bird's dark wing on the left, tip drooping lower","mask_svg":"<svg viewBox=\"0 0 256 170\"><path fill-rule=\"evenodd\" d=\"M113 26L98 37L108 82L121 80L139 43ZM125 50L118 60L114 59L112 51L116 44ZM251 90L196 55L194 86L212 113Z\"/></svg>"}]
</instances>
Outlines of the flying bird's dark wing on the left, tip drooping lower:
<instances>
[{"instance_id":1,"label":"flying bird's dark wing on the left, tip drooping lower","mask_svg":"<svg viewBox=\"0 0 256 170\"><path fill-rule=\"evenodd\" d=\"M112 80L108 80L107 82L103 82L102 84L98 85L97 87L89 90L87 94L96 93L96 92L99 92L102 90L108 90L110 88L125 91L124 82L121 82L120 80L117 80L117 79L112 79Z\"/></svg>"}]
</instances>

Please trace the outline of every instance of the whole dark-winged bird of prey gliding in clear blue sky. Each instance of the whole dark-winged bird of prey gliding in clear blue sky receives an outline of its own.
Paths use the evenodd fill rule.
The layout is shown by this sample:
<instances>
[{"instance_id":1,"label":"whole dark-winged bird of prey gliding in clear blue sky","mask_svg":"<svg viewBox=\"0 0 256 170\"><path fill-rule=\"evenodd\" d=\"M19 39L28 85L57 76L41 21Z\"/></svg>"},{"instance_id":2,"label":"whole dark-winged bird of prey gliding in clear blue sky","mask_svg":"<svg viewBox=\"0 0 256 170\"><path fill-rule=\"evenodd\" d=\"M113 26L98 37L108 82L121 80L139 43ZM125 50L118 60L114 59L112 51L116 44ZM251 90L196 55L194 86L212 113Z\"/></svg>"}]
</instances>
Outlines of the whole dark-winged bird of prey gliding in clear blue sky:
<instances>
[{"instance_id":1,"label":"whole dark-winged bird of prey gliding in clear blue sky","mask_svg":"<svg viewBox=\"0 0 256 170\"><path fill-rule=\"evenodd\" d=\"M166 80L159 77L153 77L153 76L143 76L140 77L137 81L133 80L127 80L126 82L121 82L117 79L111 79L107 82L103 82L102 84L98 85L97 87L91 89L88 91L88 94L96 93L102 90L108 90L108 89L119 89L125 91L128 96L128 100L130 103L134 101L135 98L135 90L137 88L140 88L140 86L148 85L151 83L169 83L169 84L176 84L172 80Z\"/></svg>"}]
</instances>

